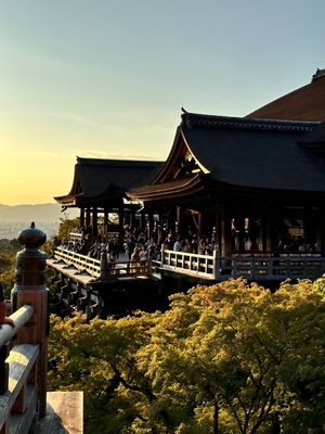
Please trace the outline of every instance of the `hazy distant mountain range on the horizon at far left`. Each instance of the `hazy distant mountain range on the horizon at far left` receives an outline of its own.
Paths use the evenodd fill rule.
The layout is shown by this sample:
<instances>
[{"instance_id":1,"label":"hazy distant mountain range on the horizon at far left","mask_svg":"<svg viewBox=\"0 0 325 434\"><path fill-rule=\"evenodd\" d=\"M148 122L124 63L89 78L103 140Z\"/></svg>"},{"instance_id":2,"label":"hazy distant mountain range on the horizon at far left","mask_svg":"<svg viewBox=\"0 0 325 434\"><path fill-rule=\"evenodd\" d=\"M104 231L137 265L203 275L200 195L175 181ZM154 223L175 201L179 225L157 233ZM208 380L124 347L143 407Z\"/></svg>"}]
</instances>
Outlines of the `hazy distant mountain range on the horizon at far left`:
<instances>
[{"instance_id":1,"label":"hazy distant mountain range on the horizon at far left","mask_svg":"<svg viewBox=\"0 0 325 434\"><path fill-rule=\"evenodd\" d=\"M37 204L37 205L4 205L0 204L0 222L31 222L35 221L55 221L61 217L74 218L79 215L78 209L61 212L58 204Z\"/></svg>"}]
</instances>

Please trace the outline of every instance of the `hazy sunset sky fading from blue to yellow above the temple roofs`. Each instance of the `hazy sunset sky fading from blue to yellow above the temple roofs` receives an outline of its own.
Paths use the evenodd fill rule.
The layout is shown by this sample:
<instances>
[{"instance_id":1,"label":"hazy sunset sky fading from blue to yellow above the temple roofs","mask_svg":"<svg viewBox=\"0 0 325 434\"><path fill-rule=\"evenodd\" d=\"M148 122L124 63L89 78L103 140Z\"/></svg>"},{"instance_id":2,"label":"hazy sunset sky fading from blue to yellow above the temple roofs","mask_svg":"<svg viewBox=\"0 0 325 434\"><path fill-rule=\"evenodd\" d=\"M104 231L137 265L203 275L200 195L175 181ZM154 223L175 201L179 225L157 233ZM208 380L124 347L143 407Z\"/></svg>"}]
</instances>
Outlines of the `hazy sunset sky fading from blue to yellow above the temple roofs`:
<instances>
[{"instance_id":1,"label":"hazy sunset sky fading from blue to yellow above the temple roofs","mask_svg":"<svg viewBox=\"0 0 325 434\"><path fill-rule=\"evenodd\" d=\"M244 116L325 67L324 0L0 0L0 203L76 156L165 159L181 106Z\"/></svg>"}]
</instances>

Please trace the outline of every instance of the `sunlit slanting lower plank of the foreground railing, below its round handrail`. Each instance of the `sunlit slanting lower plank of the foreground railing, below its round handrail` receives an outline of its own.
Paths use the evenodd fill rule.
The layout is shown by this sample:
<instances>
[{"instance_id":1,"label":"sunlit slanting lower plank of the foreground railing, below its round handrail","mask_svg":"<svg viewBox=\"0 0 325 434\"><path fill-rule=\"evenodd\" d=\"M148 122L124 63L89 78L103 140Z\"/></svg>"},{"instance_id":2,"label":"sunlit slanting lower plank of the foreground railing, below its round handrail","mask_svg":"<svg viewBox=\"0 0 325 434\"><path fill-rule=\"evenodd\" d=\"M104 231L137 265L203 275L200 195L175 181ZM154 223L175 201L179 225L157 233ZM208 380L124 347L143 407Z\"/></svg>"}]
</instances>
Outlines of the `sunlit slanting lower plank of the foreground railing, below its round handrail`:
<instances>
[{"instance_id":1,"label":"sunlit slanting lower plank of the foreground railing, below its round handrail","mask_svg":"<svg viewBox=\"0 0 325 434\"><path fill-rule=\"evenodd\" d=\"M0 396L0 427L9 418L17 396L27 381L27 378L39 355L39 346L30 344L15 345L10 352L9 390Z\"/></svg>"}]
</instances>

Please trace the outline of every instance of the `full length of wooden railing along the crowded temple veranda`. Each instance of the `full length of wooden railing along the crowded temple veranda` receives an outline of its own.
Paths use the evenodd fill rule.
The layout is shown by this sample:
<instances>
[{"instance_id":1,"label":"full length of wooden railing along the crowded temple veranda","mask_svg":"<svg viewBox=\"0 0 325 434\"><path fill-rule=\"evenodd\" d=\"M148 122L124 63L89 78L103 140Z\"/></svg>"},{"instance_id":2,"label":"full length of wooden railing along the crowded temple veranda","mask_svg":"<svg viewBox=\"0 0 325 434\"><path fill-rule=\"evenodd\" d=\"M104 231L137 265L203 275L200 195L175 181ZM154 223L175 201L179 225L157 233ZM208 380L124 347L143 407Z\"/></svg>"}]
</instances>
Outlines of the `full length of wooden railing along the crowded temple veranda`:
<instances>
[{"instance_id":1,"label":"full length of wooden railing along the crowded temple veranda","mask_svg":"<svg viewBox=\"0 0 325 434\"><path fill-rule=\"evenodd\" d=\"M112 278L150 276L153 264L150 260L116 261L91 258L86 255L58 247L54 257L66 267L75 267L79 272L86 271L94 278L106 280ZM284 280L287 278L315 278L325 272L325 258L320 254L233 254L232 256L198 255L185 252L161 251L161 259L156 263L160 270L203 278L206 280L226 280L230 277L244 277L249 280Z\"/></svg>"}]
</instances>

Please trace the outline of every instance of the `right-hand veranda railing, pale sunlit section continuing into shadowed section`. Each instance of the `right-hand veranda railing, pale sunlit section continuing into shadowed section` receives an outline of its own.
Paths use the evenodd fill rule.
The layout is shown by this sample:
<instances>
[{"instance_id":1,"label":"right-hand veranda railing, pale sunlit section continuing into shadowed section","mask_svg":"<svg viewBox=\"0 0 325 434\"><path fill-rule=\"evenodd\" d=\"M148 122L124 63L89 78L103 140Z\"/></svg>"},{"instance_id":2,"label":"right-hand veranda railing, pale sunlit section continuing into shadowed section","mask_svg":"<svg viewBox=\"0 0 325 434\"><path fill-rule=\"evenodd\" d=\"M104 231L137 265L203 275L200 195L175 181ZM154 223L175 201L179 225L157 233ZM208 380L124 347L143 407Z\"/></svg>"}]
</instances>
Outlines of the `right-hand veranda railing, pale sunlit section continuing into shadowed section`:
<instances>
[{"instance_id":1,"label":"right-hand veranda railing, pale sunlit section continuing into shadowed section","mask_svg":"<svg viewBox=\"0 0 325 434\"><path fill-rule=\"evenodd\" d=\"M234 254L220 257L185 252L161 251L161 270L199 277L208 280L225 280L244 277L249 280L285 280L315 278L325 272L325 258L320 254Z\"/></svg>"}]
</instances>

